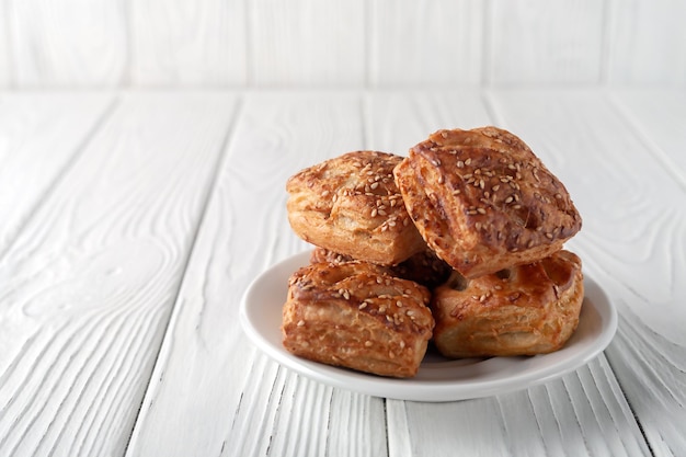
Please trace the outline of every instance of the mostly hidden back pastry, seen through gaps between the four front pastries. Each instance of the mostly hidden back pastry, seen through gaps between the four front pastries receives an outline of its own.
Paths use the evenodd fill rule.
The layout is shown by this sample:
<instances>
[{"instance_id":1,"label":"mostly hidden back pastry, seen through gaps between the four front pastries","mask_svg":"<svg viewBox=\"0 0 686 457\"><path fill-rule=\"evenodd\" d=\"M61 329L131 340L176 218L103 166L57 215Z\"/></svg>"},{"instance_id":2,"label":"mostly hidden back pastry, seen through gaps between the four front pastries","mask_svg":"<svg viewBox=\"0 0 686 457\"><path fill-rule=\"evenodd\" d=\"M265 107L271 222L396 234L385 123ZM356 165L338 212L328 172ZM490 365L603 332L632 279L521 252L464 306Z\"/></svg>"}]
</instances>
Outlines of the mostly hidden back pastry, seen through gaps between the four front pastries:
<instances>
[{"instance_id":1,"label":"mostly hidden back pastry, seen through gaps between the four front pastries","mask_svg":"<svg viewBox=\"0 0 686 457\"><path fill-rule=\"evenodd\" d=\"M310 255L311 263L345 263L354 260L350 255L339 254L324 248L315 248ZM453 269L438 259L431 249L425 249L398 265L388 266L386 271L391 276L414 281L432 289L443 284L450 276Z\"/></svg>"}]
</instances>

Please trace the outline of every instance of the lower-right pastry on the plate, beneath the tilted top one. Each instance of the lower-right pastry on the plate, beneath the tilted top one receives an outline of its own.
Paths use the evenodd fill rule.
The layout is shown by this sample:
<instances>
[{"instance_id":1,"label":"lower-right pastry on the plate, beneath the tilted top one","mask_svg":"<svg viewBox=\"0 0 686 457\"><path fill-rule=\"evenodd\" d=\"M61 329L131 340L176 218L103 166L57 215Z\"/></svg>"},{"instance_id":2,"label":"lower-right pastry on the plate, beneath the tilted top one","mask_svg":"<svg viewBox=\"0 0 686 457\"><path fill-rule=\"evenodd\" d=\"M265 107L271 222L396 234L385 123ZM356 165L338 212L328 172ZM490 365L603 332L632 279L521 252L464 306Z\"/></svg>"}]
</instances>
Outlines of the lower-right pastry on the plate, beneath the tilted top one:
<instances>
[{"instance_id":1,"label":"lower-right pastry on the plate, beneath the tilted top one","mask_svg":"<svg viewBox=\"0 0 686 457\"><path fill-rule=\"evenodd\" d=\"M583 297L581 260L564 250L471 281L455 272L434 290L434 343L447 357L557 351L576 329Z\"/></svg>"}]
</instances>

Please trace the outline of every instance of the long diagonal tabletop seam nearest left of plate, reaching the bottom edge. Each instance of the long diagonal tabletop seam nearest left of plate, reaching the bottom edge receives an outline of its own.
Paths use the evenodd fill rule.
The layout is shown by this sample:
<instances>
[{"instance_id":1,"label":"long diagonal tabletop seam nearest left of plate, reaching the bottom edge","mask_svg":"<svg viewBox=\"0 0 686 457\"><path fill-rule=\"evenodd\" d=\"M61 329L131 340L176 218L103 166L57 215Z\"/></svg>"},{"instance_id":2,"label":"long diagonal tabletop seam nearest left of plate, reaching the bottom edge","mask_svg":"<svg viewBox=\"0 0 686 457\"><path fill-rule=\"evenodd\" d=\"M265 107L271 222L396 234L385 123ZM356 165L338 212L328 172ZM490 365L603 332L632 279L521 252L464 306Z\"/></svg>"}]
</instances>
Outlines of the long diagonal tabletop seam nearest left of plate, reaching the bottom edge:
<instances>
[{"instance_id":1,"label":"long diagonal tabletop seam nearest left of plate, reaching the bottom edge","mask_svg":"<svg viewBox=\"0 0 686 457\"><path fill-rule=\"evenodd\" d=\"M231 115L229 116L229 125L226 129L226 134L221 140L221 144L219 146L219 153L217 153L217 159L215 160L215 165L213 168L213 172L211 172L211 178L209 180L209 185L207 186L207 190L205 191L205 196L203 197L204 202L202 204L202 208L201 208L201 213L199 213L199 217L198 217L198 221L196 224L195 230L193 231L193 236L192 239L193 241L191 242L191 247L188 249L188 252L186 254L186 258L183 262L183 267L181 269L181 278L179 281L179 286L176 287L176 290L173 294L174 300L173 304L171 306L171 310L169 312L169 318L167 319L167 322L164 323L164 333L162 336L162 341L159 345L159 349L157 351L157 354L155 356L155 362L152 363L152 369L150 372L150 378L148 379L148 384L146 386L146 391L140 400L140 404L138 405L138 411L136 412L136 419L134 420L134 424L132 426L132 431L129 433L128 439L126 442L126 446L124 448L124 455L128 455L128 450L129 450L129 446L132 443L132 439L134 437L134 434L136 432L136 429L139 426L139 422L140 422L140 414L142 412L142 407L146 404L146 402L150 399L150 396L152 395L151 391L151 386L152 386L152 380L155 378L155 374L158 370L159 364L160 364L160 356L162 354L162 350L169 344L168 341L170 339L170 331L172 330L172 322L174 322L176 319L176 315L179 312L179 308L180 308L180 293L181 289L183 288L183 284L184 284L184 279L185 279L185 275L186 272L188 271L188 265L191 263L191 260L193 259L193 253L195 252L195 247L197 243L197 239L198 239L198 235L201 233L202 229L203 229L203 225L205 222L205 217L207 215L207 208L209 207L209 204L213 201L213 196L216 195L216 188L217 188L217 183L219 180L219 175L221 174L221 170L224 170L224 167L226 164L226 161L228 160L228 145L230 139L233 137L233 133L236 129L236 125L238 124L238 117L240 114L240 111L242 110L243 106L243 100L242 98L238 99L236 101L236 106L233 107Z\"/></svg>"}]
</instances>

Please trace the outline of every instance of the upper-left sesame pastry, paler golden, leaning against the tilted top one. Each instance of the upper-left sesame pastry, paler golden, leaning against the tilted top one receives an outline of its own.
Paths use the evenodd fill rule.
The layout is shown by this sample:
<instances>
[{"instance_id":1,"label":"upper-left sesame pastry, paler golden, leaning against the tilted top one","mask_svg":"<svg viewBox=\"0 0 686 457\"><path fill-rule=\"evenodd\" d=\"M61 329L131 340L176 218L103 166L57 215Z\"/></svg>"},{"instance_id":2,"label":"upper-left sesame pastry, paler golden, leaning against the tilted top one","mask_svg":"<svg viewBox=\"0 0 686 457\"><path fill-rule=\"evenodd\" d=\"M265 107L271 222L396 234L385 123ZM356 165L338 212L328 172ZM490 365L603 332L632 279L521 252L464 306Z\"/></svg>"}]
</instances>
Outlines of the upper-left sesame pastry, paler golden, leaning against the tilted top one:
<instances>
[{"instance_id":1,"label":"upper-left sesame pastry, paler golden, leaning against the tilted top one","mask_svg":"<svg viewBox=\"0 0 686 457\"><path fill-rule=\"evenodd\" d=\"M293 175L286 184L293 230L315 245L384 265L425 250L393 180L401 160L356 151Z\"/></svg>"}]
</instances>

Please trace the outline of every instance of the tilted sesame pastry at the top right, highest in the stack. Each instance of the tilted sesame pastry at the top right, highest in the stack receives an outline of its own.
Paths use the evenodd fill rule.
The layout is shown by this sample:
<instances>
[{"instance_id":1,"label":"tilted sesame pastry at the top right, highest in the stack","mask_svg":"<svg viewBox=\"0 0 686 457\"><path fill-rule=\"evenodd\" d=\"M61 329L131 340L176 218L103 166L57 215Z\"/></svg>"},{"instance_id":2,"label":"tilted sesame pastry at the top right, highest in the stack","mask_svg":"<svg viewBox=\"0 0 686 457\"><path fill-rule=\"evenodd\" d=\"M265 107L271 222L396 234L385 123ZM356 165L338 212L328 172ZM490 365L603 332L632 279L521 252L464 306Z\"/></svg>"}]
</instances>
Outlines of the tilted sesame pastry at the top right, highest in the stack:
<instances>
[{"instance_id":1,"label":"tilted sesame pastry at the top right, highest in the stack","mask_svg":"<svg viewBox=\"0 0 686 457\"><path fill-rule=\"evenodd\" d=\"M581 229L564 185L496 127L438 130L395 176L430 248L467 277L546 258Z\"/></svg>"}]
</instances>

